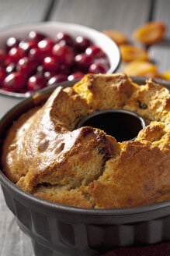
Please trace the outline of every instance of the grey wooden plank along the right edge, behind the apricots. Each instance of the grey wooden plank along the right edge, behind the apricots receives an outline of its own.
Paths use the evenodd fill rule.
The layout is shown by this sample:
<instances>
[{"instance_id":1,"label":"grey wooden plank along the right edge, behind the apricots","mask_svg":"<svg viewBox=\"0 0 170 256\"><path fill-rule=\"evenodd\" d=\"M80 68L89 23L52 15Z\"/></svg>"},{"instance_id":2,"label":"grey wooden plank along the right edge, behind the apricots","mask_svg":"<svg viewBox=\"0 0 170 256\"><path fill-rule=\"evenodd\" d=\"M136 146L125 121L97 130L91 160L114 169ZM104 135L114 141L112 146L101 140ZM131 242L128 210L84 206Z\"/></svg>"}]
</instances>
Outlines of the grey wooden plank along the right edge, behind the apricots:
<instances>
[{"instance_id":1,"label":"grey wooden plank along the right edge, behind the apricots","mask_svg":"<svg viewBox=\"0 0 170 256\"><path fill-rule=\"evenodd\" d=\"M161 20L165 23L167 30L165 39L149 48L149 55L158 66L159 72L170 70L170 1L158 0L154 5L153 20Z\"/></svg>"}]
</instances>

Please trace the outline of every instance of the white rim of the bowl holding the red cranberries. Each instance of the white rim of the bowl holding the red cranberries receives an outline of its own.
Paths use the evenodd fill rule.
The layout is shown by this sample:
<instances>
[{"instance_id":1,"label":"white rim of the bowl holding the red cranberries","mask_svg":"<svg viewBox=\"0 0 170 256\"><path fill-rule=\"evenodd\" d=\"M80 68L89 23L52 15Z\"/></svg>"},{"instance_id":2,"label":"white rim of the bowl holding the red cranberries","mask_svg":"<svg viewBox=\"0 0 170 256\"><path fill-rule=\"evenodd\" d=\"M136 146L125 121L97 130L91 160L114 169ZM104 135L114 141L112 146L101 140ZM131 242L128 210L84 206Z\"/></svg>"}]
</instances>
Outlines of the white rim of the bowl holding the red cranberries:
<instances>
[{"instance_id":1,"label":"white rim of the bowl holding the red cranberries","mask_svg":"<svg viewBox=\"0 0 170 256\"><path fill-rule=\"evenodd\" d=\"M25 22L25 23L16 23L16 24L9 24L5 27L0 28L0 37L2 34L8 34L12 33L12 30L23 30L23 28L28 29L29 27L33 27L35 30L43 30L43 27L48 28L48 27L62 27L63 29L66 28L71 28L73 30L82 30L82 31L87 31L88 34L96 34L96 36L100 35L103 38L105 38L106 41L109 42L109 44L113 44L114 51L116 51L118 58L116 64L113 66L113 62L111 59L109 59L110 63L110 68L107 71L107 74L110 73L115 73L116 70L120 66L121 62L121 55L120 55L120 48L116 44L115 41L113 41L111 38L106 36L106 34L103 34L102 31L99 31L93 27L88 27L85 25L81 25L78 23L67 23L67 22L60 22L60 21L40 21L40 22ZM46 33L46 32L44 32ZM26 92L25 94L21 94L19 92L11 92L11 91L5 91L0 88L0 95L5 95L9 98L28 98L30 95L32 95L32 92Z\"/></svg>"}]
</instances>

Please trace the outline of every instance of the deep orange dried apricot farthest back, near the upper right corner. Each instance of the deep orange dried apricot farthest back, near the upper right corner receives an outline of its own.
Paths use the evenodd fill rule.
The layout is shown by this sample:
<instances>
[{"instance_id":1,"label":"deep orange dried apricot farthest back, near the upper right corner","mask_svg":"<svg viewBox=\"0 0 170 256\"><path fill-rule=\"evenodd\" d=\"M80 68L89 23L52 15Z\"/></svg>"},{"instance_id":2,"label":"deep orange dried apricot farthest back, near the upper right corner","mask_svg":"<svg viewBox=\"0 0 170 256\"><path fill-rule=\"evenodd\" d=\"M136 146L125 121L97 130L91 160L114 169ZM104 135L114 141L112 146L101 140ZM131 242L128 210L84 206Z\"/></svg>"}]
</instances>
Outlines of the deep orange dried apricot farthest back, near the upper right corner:
<instances>
[{"instance_id":1,"label":"deep orange dried apricot farthest back, near the upper right corner","mask_svg":"<svg viewBox=\"0 0 170 256\"><path fill-rule=\"evenodd\" d=\"M154 44L160 41L165 35L165 24L161 21L152 21L137 28L134 31L134 38L144 44Z\"/></svg>"}]
</instances>

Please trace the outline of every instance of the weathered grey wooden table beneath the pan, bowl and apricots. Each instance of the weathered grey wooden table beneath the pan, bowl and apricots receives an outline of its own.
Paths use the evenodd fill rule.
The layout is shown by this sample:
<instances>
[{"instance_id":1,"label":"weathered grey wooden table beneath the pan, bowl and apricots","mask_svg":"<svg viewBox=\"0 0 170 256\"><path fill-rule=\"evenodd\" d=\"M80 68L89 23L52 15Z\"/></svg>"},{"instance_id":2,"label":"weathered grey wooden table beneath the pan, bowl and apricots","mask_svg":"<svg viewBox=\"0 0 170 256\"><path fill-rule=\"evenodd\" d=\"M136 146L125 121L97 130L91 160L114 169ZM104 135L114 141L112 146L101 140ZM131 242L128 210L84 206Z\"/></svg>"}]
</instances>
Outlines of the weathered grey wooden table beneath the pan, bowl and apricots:
<instances>
[{"instance_id":1,"label":"weathered grey wooden table beneath the pan, bowl and apricots","mask_svg":"<svg viewBox=\"0 0 170 256\"><path fill-rule=\"evenodd\" d=\"M0 0L0 29L17 23L62 21L79 23L97 30L120 30L132 41L133 31L149 20L165 22L164 41L152 45L150 58L160 72L170 69L169 0ZM121 66L119 71L121 71ZM21 101L0 96L0 117ZM0 255L33 256L29 237L20 231L5 205L0 190Z\"/></svg>"}]
</instances>

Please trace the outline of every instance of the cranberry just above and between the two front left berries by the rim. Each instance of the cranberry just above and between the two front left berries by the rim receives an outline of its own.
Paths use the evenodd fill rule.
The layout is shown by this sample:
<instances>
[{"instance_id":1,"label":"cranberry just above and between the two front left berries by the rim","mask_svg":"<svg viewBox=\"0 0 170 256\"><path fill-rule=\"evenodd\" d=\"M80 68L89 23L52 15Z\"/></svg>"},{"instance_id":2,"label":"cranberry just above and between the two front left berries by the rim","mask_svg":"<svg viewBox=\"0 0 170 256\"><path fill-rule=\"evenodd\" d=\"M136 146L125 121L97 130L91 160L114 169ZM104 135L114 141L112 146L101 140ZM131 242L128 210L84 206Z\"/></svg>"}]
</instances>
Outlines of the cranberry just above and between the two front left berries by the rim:
<instances>
[{"instance_id":1,"label":"cranberry just above and between the two front left berries by the rim","mask_svg":"<svg viewBox=\"0 0 170 256\"><path fill-rule=\"evenodd\" d=\"M23 73L23 76L30 76L36 71L37 66L37 62L24 57L23 59L19 59L19 62L16 65L16 69L20 73Z\"/></svg>"}]
</instances>

